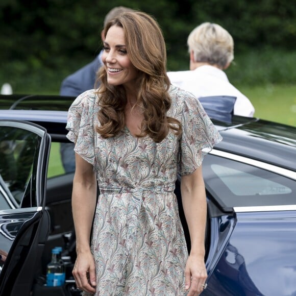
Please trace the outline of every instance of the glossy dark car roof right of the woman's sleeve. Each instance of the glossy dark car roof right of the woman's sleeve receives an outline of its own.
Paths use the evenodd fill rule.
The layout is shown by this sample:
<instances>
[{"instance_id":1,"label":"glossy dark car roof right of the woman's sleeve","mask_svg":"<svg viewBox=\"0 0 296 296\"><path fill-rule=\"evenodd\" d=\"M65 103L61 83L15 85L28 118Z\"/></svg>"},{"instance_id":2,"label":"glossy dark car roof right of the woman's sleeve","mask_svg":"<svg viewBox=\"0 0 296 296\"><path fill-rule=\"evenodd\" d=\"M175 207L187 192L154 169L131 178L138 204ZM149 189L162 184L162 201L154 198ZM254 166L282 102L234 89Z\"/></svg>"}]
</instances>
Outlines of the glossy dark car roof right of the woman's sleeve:
<instances>
[{"instance_id":1,"label":"glossy dark car roof right of the woman's sleeve","mask_svg":"<svg viewBox=\"0 0 296 296\"><path fill-rule=\"evenodd\" d=\"M258 120L220 133L217 149L296 171L294 127Z\"/></svg>"}]
</instances>

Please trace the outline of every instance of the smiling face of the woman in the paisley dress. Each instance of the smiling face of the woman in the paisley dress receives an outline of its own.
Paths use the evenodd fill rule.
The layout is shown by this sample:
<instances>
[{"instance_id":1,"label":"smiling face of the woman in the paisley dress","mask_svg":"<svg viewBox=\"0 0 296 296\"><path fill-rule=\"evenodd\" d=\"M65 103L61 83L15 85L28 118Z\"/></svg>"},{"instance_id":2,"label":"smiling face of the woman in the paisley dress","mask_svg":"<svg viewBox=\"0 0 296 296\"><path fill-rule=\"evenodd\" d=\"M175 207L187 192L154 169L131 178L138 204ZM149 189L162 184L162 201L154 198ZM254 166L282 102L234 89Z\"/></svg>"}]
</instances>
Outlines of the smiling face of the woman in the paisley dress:
<instances>
[{"instance_id":1,"label":"smiling face of the woman in the paisley dress","mask_svg":"<svg viewBox=\"0 0 296 296\"><path fill-rule=\"evenodd\" d=\"M135 86L138 70L129 58L124 29L112 26L104 41L102 61L107 72L107 81L111 85L124 85L126 88Z\"/></svg>"}]
</instances>

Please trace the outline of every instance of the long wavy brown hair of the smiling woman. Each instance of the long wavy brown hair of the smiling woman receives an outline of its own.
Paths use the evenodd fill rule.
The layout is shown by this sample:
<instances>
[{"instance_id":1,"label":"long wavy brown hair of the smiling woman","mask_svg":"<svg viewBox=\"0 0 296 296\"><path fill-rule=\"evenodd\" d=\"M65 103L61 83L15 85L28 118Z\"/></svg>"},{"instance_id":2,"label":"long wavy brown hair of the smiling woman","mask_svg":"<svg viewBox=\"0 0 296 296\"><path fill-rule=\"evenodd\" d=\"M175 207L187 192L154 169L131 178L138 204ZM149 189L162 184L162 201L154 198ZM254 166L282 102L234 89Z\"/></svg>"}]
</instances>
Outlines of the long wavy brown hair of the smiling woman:
<instances>
[{"instance_id":1,"label":"long wavy brown hair of the smiling woman","mask_svg":"<svg viewBox=\"0 0 296 296\"><path fill-rule=\"evenodd\" d=\"M139 72L136 104L141 106L144 118L137 137L149 135L158 143L169 129L180 135L180 121L166 115L171 106L170 81L166 75L165 41L157 21L144 12L125 12L106 24L105 37L112 26L124 30L129 58ZM98 71L97 80L101 83L97 90L101 107L97 116L101 126L97 126L96 131L103 138L114 137L125 127L126 92L122 85L108 84L105 67Z\"/></svg>"}]
</instances>

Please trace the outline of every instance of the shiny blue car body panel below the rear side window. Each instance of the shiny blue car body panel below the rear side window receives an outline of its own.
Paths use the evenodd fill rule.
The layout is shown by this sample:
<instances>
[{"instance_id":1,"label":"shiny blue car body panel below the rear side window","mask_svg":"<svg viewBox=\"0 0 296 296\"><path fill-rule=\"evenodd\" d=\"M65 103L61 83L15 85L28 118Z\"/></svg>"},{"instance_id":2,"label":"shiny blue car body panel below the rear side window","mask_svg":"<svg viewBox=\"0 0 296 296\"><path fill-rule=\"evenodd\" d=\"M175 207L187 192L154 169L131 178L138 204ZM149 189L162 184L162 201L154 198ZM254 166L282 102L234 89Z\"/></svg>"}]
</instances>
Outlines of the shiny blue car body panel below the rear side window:
<instances>
[{"instance_id":1,"label":"shiny blue car body panel below the rear side window","mask_svg":"<svg viewBox=\"0 0 296 296\"><path fill-rule=\"evenodd\" d=\"M294 295L295 211L237 213L203 295Z\"/></svg>"}]
</instances>

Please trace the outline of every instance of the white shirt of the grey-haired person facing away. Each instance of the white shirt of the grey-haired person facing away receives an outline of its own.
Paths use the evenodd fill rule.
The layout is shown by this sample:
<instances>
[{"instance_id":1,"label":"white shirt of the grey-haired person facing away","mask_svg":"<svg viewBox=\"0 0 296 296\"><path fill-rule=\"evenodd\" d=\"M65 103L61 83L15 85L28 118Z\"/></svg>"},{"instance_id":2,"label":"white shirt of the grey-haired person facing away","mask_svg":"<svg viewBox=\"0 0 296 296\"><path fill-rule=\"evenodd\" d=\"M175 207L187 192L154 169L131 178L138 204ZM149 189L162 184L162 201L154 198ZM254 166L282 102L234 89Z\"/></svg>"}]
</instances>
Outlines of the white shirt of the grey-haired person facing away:
<instances>
[{"instance_id":1,"label":"white shirt of the grey-haired person facing away","mask_svg":"<svg viewBox=\"0 0 296 296\"><path fill-rule=\"evenodd\" d=\"M255 108L249 98L236 89L226 73L214 66L204 65L189 71L167 72L171 84L191 92L197 98L211 95L236 96L235 115L253 117Z\"/></svg>"}]
</instances>

